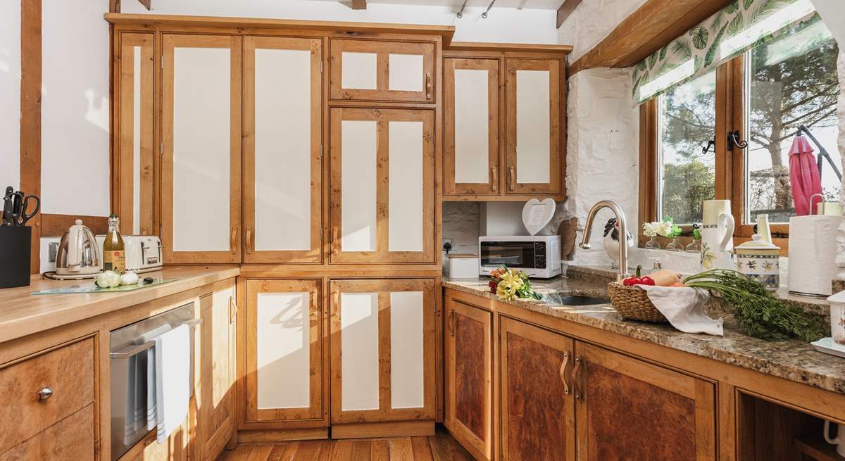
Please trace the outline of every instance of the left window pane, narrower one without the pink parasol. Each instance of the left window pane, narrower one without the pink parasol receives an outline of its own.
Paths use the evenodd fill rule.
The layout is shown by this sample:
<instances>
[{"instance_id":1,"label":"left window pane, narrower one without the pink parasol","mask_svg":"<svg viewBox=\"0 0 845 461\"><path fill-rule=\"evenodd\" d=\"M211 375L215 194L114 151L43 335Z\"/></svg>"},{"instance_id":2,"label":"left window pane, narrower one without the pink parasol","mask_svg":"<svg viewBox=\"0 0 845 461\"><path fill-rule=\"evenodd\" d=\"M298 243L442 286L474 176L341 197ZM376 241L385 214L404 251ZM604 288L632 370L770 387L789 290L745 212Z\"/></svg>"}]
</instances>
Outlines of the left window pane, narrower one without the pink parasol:
<instances>
[{"instance_id":1,"label":"left window pane, narrower one without the pink parasol","mask_svg":"<svg viewBox=\"0 0 845 461\"><path fill-rule=\"evenodd\" d=\"M675 224L701 222L701 203L716 193L716 72L681 84L660 102L661 165L658 219Z\"/></svg>"}]
</instances>

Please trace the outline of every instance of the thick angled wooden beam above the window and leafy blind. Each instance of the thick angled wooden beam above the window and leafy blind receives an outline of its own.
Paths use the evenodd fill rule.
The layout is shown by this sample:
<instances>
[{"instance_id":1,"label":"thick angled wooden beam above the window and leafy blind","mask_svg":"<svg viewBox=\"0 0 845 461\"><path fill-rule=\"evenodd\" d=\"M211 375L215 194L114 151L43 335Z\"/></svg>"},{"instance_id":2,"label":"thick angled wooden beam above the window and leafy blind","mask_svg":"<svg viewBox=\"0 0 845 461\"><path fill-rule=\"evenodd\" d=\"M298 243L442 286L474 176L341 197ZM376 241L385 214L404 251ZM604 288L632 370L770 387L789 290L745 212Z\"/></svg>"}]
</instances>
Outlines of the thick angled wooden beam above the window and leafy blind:
<instances>
[{"instance_id":1,"label":"thick angled wooden beam above the window and leafy blind","mask_svg":"<svg viewBox=\"0 0 845 461\"><path fill-rule=\"evenodd\" d=\"M646 0L597 46L573 62L569 74L588 68L633 66L731 1Z\"/></svg>"}]
</instances>

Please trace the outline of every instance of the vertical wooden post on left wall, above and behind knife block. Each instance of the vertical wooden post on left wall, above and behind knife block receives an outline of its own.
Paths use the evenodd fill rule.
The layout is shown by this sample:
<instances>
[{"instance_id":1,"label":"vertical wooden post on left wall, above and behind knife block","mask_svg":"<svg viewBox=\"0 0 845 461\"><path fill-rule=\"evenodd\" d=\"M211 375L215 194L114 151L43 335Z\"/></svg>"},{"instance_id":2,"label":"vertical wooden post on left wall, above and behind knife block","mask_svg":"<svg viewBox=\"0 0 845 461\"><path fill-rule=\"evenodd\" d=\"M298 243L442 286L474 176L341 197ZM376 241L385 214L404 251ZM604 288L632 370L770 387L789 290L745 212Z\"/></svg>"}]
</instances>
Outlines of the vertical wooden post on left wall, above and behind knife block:
<instances>
[{"instance_id":1,"label":"vertical wooden post on left wall, above and behind knife block","mask_svg":"<svg viewBox=\"0 0 845 461\"><path fill-rule=\"evenodd\" d=\"M20 190L41 197L41 0L20 0ZM30 273L38 274L41 213L30 227Z\"/></svg>"}]
</instances>

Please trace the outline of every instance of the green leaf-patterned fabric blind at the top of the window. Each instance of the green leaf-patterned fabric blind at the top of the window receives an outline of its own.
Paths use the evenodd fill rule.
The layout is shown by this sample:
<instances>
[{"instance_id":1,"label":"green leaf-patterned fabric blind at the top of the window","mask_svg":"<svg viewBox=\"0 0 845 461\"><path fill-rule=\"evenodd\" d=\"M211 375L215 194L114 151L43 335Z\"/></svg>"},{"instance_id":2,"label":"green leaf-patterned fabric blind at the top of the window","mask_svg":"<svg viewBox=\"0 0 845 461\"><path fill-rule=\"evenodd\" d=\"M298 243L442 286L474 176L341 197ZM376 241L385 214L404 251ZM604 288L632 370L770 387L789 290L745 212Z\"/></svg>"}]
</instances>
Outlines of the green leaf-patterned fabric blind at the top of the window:
<instances>
[{"instance_id":1,"label":"green leaf-patterned fabric blind at the top of the window","mask_svg":"<svg viewBox=\"0 0 845 461\"><path fill-rule=\"evenodd\" d=\"M733 0L657 52L633 72L635 104L694 79L795 23L810 19L810 0Z\"/></svg>"}]
</instances>

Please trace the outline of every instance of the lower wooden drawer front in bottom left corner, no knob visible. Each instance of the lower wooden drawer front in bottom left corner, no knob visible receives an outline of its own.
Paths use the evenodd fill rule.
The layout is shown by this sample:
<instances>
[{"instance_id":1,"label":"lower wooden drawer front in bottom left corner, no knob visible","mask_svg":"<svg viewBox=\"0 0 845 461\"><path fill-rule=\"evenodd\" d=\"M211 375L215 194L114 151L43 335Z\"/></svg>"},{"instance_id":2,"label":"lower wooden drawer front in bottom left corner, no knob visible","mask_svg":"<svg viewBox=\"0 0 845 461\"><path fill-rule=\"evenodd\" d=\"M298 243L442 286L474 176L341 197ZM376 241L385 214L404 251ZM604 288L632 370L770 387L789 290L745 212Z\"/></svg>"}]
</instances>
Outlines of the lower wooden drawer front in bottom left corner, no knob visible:
<instances>
[{"instance_id":1,"label":"lower wooden drawer front in bottom left corner, no knob visible","mask_svg":"<svg viewBox=\"0 0 845 461\"><path fill-rule=\"evenodd\" d=\"M94 431L94 405L89 404L55 426L0 454L0 461L94 459Z\"/></svg>"}]
</instances>

